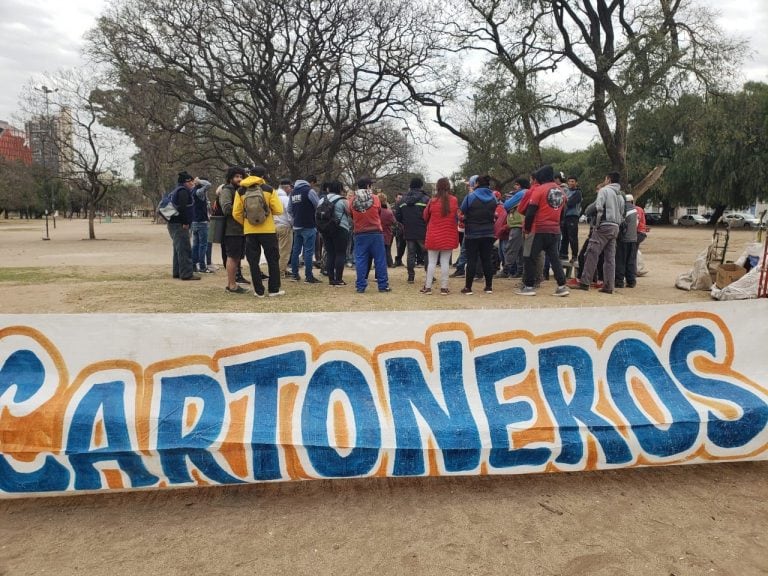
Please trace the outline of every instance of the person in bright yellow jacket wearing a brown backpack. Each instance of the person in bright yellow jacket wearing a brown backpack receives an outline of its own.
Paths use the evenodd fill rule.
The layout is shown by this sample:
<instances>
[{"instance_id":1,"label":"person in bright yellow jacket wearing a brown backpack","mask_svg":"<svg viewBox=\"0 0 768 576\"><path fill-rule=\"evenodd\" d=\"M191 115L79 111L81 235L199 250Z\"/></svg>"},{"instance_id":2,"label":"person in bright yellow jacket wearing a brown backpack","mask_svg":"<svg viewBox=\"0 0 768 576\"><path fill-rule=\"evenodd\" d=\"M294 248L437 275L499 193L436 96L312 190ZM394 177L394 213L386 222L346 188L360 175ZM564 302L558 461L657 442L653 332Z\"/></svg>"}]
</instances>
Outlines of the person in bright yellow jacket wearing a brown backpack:
<instances>
[{"instance_id":1,"label":"person in bright yellow jacket wearing a brown backpack","mask_svg":"<svg viewBox=\"0 0 768 576\"><path fill-rule=\"evenodd\" d=\"M267 259L267 269L269 270L269 280L267 289L269 296L283 296L284 290L280 289L280 252L277 247L277 233L275 229L275 220L273 215L283 213L283 203L280 201L277 193L264 180L266 171L262 166L255 166L250 170L250 176L240 182L240 186L245 188L242 194L235 195L235 203L232 208L232 217L243 225L245 234L245 258L248 260L248 266L251 269L251 279L253 281L253 293L257 298L264 298L264 283L261 278L259 262L261 261L261 251L264 250L264 257ZM258 187L261 191L258 198L249 195L251 188ZM246 208L249 202L250 206L258 202L261 205L256 210L258 216L247 214L253 208ZM262 220L256 223L256 220Z\"/></svg>"}]
</instances>

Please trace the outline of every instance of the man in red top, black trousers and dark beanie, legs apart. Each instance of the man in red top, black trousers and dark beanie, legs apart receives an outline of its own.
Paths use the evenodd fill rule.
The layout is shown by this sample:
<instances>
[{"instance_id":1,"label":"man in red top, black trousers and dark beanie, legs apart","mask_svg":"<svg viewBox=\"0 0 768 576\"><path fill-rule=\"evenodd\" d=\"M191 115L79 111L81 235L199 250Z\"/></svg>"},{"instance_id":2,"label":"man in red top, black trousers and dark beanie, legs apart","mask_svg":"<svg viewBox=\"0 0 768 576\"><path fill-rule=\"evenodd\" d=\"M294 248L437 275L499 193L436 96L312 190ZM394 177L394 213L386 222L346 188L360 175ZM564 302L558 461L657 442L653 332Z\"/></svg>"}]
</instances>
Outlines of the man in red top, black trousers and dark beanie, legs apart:
<instances>
[{"instance_id":1,"label":"man in red top, black trousers and dark beanie, legs apart","mask_svg":"<svg viewBox=\"0 0 768 576\"><path fill-rule=\"evenodd\" d=\"M520 296L535 296L536 261L544 252L552 265L557 281L553 296L568 296L570 291L565 285L565 273L560 262L560 215L565 207L565 192L555 182L552 166L542 166L534 180L536 186L530 191L525 209L523 233L533 235L531 252L526 257L523 287L516 292Z\"/></svg>"}]
</instances>

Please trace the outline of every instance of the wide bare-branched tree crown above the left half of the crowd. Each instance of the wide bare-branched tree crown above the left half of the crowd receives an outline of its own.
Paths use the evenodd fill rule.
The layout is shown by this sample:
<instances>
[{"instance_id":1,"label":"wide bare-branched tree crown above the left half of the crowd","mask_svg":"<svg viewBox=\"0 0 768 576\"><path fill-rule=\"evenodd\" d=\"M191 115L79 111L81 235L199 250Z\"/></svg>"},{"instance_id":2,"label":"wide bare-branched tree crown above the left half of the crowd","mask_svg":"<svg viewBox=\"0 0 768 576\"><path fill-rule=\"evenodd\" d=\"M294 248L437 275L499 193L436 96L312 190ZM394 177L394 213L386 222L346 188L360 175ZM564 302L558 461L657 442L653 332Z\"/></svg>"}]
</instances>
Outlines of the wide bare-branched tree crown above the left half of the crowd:
<instances>
[{"instance_id":1,"label":"wide bare-branched tree crown above the left half of the crowd","mask_svg":"<svg viewBox=\"0 0 768 576\"><path fill-rule=\"evenodd\" d=\"M150 76L223 162L330 175L362 130L418 113L405 82L449 90L433 84L431 14L407 0L115 1L89 51L124 78Z\"/></svg>"}]
</instances>

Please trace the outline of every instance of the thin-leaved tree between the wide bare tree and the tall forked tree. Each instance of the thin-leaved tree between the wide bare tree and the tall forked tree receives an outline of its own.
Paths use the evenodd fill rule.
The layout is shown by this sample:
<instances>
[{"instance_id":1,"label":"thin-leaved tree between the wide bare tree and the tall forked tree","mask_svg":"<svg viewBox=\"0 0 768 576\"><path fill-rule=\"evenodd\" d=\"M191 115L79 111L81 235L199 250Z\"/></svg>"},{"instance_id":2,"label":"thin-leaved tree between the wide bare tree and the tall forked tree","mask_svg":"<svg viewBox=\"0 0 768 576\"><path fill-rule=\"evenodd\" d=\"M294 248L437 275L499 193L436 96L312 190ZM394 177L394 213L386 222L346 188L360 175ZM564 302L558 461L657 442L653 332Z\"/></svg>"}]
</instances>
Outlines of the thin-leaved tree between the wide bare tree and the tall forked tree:
<instances>
[{"instance_id":1,"label":"thin-leaved tree between the wide bare tree and the tall forked tree","mask_svg":"<svg viewBox=\"0 0 768 576\"><path fill-rule=\"evenodd\" d=\"M449 6L437 26L454 40L453 50L490 56L479 74L463 82L472 92L471 109L417 88L414 97L434 108L438 124L464 140L470 156L492 159L507 178L518 169L507 162L508 153L541 165L543 143L590 112L578 92L550 74L564 60L547 26L551 11L530 0L453 0Z\"/></svg>"}]
</instances>

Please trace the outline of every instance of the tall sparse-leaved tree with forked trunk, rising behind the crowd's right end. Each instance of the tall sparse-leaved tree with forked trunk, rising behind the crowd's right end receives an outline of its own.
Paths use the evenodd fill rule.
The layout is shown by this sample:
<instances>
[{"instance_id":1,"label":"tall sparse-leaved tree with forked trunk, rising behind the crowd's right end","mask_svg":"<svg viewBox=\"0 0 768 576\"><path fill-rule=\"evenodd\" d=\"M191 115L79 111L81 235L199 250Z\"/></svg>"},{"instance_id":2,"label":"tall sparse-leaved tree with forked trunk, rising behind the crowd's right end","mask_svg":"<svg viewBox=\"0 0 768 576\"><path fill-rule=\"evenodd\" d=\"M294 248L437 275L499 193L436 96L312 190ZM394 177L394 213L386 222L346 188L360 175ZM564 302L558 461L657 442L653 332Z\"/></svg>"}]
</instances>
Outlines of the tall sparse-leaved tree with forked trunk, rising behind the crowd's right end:
<instances>
[{"instance_id":1,"label":"tall sparse-leaved tree with forked trunk, rising behind the crowd's right end","mask_svg":"<svg viewBox=\"0 0 768 576\"><path fill-rule=\"evenodd\" d=\"M588 87L594 123L614 170L628 181L627 134L638 105L727 86L744 44L726 37L694 0L540 0L557 51Z\"/></svg>"}]
</instances>

